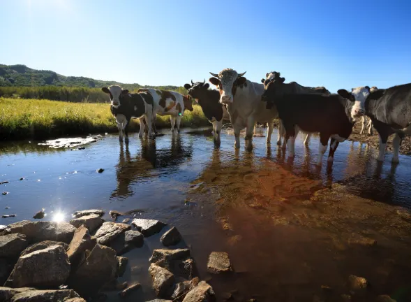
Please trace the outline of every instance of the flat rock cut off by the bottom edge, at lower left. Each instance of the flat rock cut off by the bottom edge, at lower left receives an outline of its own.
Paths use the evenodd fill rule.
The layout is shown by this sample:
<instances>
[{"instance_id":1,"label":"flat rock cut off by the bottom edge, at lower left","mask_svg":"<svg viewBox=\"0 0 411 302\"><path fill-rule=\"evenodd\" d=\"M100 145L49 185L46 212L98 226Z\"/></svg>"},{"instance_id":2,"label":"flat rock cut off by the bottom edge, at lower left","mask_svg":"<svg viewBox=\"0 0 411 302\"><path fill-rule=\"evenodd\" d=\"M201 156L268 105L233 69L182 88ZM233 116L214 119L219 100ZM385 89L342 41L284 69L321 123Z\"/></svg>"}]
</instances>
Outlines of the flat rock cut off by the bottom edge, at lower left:
<instances>
[{"instance_id":1,"label":"flat rock cut off by the bottom edge, at lower left","mask_svg":"<svg viewBox=\"0 0 411 302\"><path fill-rule=\"evenodd\" d=\"M80 299L80 296L73 289L29 290L15 294L10 302L66 302L72 298Z\"/></svg>"}]
</instances>

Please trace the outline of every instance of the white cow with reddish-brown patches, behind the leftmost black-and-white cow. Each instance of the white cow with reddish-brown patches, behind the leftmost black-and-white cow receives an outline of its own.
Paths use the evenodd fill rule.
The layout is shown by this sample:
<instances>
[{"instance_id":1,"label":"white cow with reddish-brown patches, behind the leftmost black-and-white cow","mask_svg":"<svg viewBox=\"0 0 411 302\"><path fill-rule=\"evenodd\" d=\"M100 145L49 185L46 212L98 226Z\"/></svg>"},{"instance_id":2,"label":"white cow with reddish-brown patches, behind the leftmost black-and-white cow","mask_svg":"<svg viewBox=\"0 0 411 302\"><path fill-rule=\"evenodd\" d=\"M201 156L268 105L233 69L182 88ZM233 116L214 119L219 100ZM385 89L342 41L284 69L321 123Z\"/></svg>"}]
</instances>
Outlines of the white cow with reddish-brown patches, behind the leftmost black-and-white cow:
<instances>
[{"instance_id":1,"label":"white cow with reddish-brown patches, behind the leftmost black-and-white cow","mask_svg":"<svg viewBox=\"0 0 411 302\"><path fill-rule=\"evenodd\" d=\"M153 116L153 128L156 129L156 117L157 115L165 116L170 115L171 131L174 131L175 124L177 122L177 132L180 132L181 117L184 116L184 111L193 111L193 102L190 96L184 96L178 92L171 92L167 90L158 90L152 88L140 88L138 92L147 92L153 96L154 100L154 116Z\"/></svg>"}]
</instances>

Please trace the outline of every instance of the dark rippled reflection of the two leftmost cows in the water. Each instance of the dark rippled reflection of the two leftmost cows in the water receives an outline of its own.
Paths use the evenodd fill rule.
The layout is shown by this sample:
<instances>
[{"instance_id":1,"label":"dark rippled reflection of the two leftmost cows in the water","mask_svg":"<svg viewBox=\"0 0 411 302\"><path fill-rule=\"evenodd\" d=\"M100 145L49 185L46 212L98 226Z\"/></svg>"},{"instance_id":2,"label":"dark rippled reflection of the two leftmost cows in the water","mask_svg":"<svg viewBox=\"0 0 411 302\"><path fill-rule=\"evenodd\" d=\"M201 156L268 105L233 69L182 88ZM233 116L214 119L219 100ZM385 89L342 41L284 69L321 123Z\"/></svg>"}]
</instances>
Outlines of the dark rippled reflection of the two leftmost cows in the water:
<instances>
[{"instance_id":1,"label":"dark rippled reflection of the two leftmost cows in the water","mask_svg":"<svg viewBox=\"0 0 411 302\"><path fill-rule=\"evenodd\" d=\"M112 198L133 196L133 185L158 178L161 174L177 171L180 164L190 161L193 156L193 143L188 139L181 142L179 134L172 134L170 145L163 140L141 140L140 152L130 155L128 144L121 143L119 164L116 167L117 188Z\"/></svg>"}]
</instances>

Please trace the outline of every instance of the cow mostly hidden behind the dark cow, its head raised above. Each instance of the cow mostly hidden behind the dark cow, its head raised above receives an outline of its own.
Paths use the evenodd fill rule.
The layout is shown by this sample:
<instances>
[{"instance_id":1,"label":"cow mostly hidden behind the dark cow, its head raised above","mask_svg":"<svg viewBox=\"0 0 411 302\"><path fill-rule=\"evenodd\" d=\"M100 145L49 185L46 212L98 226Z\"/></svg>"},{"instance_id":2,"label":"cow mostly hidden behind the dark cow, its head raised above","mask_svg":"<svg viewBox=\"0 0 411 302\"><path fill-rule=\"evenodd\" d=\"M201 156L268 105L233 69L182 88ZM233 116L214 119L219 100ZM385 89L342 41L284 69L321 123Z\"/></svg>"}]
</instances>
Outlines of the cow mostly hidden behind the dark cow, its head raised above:
<instances>
[{"instance_id":1,"label":"cow mostly hidden behind the dark cow, its head raised above","mask_svg":"<svg viewBox=\"0 0 411 302\"><path fill-rule=\"evenodd\" d=\"M276 72L276 71L271 71L270 73L266 73L265 77L266 77L265 79L264 78L261 79L261 82L264 85L264 87L267 86L271 80L282 79L281 73ZM289 89L289 92L287 93L290 93L290 94L293 94L293 93L314 93L314 94L327 94L327 95L330 94L330 92L325 87L315 87L315 88L306 87L306 86L299 85L297 82L290 82L285 85L286 86L284 86L284 89L286 89L285 87L287 87L287 89ZM267 106L271 108L271 105L268 103L267 103ZM281 122L278 125L278 133L280 136L278 145L281 145L281 136L285 135ZM304 139L304 145L308 145L310 138L311 138L311 134L306 134L306 138ZM283 148L285 148L285 143L283 144Z\"/></svg>"}]
</instances>

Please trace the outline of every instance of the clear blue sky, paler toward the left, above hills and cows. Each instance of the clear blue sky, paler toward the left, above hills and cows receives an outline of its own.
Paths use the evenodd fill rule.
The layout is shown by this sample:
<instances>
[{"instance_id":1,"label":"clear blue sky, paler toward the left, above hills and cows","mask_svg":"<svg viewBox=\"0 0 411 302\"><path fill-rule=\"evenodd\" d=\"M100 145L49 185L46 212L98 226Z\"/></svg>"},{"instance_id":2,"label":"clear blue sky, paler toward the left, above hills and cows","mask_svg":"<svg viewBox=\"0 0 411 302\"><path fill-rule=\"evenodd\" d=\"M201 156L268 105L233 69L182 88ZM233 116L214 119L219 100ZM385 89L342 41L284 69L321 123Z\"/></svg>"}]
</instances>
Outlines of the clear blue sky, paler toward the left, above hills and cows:
<instances>
[{"instance_id":1,"label":"clear blue sky, paler toward the left, above hills and cows","mask_svg":"<svg viewBox=\"0 0 411 302\"><path fill-rule=\"evenodd\" d=\"M411 1L0 0L0 63L142 85L232 68L331 92L411 82Z\"/></svg>"}]
</instances>

